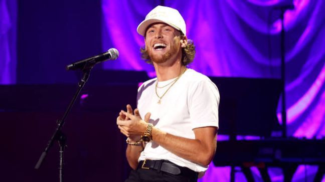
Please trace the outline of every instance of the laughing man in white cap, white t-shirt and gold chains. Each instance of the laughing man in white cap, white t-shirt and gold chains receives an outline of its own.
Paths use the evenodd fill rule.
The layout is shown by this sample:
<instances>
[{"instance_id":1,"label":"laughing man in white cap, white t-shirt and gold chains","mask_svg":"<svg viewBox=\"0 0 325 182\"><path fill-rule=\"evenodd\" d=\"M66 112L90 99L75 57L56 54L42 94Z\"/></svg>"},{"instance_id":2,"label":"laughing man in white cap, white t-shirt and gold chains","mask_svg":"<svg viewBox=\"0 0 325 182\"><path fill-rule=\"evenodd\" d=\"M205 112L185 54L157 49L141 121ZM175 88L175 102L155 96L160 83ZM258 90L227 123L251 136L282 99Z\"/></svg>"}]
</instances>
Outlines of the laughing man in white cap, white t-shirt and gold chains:
<instances>
[{"instance_id":1,"label":"laughing man in white cap, white t-shirt and gold chains","mask_svg":"<svg viewBox=\"0 0 325 182\"><path fill-rule=\"evenodd\" d=\"M137 32L144 36L142 57L157 77L139 87L138 108L127 105L117 117L134 169L126 181L197 181L217 147L218 88L186 67L195 49L178 10L155 7Z\"/></svg>"}]
</instances>

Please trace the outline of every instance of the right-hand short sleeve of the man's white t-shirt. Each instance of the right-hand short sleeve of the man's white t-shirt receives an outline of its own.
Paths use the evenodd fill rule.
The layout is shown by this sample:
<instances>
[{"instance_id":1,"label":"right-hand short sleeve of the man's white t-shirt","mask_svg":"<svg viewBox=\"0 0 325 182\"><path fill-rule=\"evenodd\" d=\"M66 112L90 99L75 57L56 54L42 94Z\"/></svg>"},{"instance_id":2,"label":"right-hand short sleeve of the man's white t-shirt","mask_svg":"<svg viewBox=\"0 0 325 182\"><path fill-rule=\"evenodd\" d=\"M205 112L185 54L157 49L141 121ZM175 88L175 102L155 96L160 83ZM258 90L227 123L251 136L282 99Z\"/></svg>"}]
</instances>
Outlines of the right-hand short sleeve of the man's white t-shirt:
<instances>
[{"instance_id":1,"label":"right-hand short sleeve of the man's white t-shirt","mask_svg":"<svg viewBox=\"0 0 325 182\"><path fill-rule=\"evenodd\" d=\"M189 91L192 129L206 126L219 128L220 94L217 86L211 80L205 79L193 84Z\"/></svg>"}]
</instances>

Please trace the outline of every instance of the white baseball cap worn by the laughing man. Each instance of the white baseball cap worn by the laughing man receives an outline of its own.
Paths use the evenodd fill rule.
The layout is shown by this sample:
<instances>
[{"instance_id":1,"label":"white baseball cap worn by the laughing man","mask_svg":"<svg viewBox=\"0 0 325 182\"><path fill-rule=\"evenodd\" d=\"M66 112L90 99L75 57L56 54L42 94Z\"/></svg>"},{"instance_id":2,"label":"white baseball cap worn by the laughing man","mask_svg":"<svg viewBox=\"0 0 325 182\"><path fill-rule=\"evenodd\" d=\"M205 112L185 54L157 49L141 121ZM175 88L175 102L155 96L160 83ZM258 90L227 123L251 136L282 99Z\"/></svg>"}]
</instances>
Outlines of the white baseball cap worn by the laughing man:
<instances>
[{"instance_id":1,"label":"white baseball cap worn by the laughing man","mask_svg":"<svg viewBox=\"0 0 325 182\"><path fill-rule=\"evenodd\" d=\"M158 5L153 8L146 16L145 19L138 25L137 32L144 36L147 27L155 22L164 22L173 26L175 29L180 30L186 35L185 20L177 9L167 6Z\"/></svg>"}]
</instances>

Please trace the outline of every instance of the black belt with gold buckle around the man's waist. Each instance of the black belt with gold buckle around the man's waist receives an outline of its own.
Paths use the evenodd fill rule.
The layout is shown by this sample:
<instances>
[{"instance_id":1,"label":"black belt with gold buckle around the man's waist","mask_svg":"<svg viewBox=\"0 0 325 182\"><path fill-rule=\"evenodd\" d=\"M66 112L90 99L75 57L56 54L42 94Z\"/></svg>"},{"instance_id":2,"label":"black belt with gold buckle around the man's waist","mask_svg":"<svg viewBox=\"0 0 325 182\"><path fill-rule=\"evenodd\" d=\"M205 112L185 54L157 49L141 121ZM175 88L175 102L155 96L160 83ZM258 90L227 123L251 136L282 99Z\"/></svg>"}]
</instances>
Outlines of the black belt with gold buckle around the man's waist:
<instances>
[{"instance_id":1,"label":"black belt with gold buckle around the man's waist","mask_svg":"<svg viewBox=\"0 0 325 182\"><path fill-rule=\"evenodd\" d=\"M198 176L198 172L187 167L181 167L169 160L140 160L137 168L155 169L158 172L161 170L174 175Z\"/></svg>"}]
</instances>

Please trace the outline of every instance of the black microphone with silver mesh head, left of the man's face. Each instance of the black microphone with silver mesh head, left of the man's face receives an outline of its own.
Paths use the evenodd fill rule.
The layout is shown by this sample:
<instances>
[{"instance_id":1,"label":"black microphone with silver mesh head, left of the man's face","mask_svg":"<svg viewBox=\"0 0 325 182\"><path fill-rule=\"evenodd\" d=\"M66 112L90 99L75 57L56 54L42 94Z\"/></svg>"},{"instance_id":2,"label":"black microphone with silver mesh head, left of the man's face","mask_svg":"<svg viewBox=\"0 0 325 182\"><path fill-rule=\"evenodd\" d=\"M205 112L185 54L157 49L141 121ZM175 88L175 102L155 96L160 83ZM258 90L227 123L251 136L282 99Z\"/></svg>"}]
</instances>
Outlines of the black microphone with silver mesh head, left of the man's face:
<instances>
[{"instance_id":1,"label":"black microphone with silver mesh head, left of the man's face","mask_svg":"<svg viewBox=\"0 0 325 182\"><path fill-rule=\"evenodd\" d=\"M85 65L92 66L99 62L103 62L105 60L115 60L118 57L119 53L116 48L110 48L106 52L101 53L99 55L95 55L92 57L88 57L83 60L79 60L77 62L74 62L72 64L69 64L66 66L67 70L75 70L75 69L83 69Z\"/></svg>"}]
</instances>

